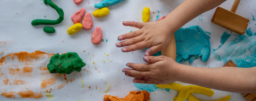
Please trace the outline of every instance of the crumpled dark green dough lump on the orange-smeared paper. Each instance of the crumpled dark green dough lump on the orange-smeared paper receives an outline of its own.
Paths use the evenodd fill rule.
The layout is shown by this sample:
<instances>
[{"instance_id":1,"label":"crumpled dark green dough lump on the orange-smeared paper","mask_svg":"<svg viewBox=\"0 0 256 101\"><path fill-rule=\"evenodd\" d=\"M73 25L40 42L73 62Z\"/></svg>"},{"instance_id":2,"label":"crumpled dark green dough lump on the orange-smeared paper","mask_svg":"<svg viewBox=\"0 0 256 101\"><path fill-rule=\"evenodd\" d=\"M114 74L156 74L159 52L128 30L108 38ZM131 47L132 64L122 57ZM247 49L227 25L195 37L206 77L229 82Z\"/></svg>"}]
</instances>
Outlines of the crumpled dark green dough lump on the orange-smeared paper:
<instances>
[{"instance_id":1,"label":"crumpled dark green dough lump on the orange-smeared paper","mask_svg":"<svg viewBox=\"0 0 256 101\"><path fill-rule=\"evenodd\" d=\"M77 55L77 53L69 52L66 54L56 55L51 57L50 63L47 65L50 73L65 73L70 74L71 72L81 71L81 68L86 64Z\"/></svg>"}]
</instances>

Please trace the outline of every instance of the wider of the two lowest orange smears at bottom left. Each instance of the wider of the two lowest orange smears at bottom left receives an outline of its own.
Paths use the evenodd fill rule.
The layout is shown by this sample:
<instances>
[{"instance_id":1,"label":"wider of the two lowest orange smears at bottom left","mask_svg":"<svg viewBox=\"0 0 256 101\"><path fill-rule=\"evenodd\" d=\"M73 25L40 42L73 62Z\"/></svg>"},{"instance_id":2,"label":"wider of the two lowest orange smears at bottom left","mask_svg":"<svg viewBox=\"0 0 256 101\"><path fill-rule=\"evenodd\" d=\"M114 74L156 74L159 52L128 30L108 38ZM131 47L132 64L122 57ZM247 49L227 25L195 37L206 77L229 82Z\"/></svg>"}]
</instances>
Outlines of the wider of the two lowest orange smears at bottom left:
<instances>
[{"instance_id":1,"label":"wider of the two lowest orange smears at bottom left","mask_svg":"<svg viewBox=\"0 0 256 101\"><path fill-rule=\"evenodd\" d=\"M21 92L18 93L18 95L20 95L22 98L30 98L30 99L31 98L38 99L38 98L43 97L42 93L34 93L31 90L21 91Z\"/></svg>"}]
</instances>

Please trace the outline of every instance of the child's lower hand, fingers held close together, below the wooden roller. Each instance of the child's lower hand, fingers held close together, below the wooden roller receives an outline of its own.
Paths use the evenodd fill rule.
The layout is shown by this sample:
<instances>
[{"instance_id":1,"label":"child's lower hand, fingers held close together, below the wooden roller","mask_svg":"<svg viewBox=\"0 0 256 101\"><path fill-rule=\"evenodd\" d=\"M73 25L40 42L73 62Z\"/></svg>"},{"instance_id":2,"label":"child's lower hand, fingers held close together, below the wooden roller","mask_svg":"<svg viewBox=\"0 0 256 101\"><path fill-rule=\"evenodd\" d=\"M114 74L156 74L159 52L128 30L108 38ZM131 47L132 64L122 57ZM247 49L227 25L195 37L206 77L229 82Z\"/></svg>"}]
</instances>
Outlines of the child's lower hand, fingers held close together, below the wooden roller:
<instances>
[{"instance_id":1,"label":"child's lower hand, fingers held close together, below the wooden roller","mask_svg":"<svg viewBox=\"0 0 256 101\"><path fill-rule=\"evenodd\" d=\"M128 63L126 66L132 68L124 68L123 72L126 76L134 77L135 83L148 84L169 84L178 80L180 69L179 63L172 58L165 56L149 56L143 57L147 63L134 64Z\"/></svg>"}]
</instances>

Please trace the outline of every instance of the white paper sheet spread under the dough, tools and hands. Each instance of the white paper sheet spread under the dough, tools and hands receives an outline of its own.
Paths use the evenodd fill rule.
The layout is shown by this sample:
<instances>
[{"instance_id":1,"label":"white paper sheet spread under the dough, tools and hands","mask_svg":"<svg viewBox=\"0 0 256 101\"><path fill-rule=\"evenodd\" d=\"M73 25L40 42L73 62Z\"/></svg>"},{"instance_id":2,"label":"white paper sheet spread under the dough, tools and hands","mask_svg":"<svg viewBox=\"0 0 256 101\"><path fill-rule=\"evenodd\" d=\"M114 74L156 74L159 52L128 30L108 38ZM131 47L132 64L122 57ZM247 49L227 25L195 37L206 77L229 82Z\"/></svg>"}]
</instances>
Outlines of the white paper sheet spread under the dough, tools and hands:
<instances>
[{"instance_id":1,"label":"white paper sheet spread under the dough, tools and hands","mask_svg":"<svg viewBox=\"0 0 256 101\"><path fill-rule=\"evenodd\" d=\"M35 19L50 19L56 20L59 16L57 12L49 5L45 5L43 0L1 0L0 1L0 53L4 52L6 56L8 53L15 52L34 52L40 50L46 53L77 53L83 61L87 64L82 68L81 76L79 72L72 72L73 75L66 75L67 79L75 79L74 81L67 83L63 88L58 89L58 85L65 83L63 78L58 78L53 86L41 88L42 79L47 77L55 77L58 74L43 75L41 70L38 69L40 66L46 66L49 63L50 58L40 58L36 63L29 64L33 66L34 70L31 75L33 76L13 76L9 74L9 69L22 68L24 64L20 63L19 60L9 60L7 64L0 65L0 74L3 73L0 80L0 93L7 91L15 91L15 99L0 96L0 101L50 101L46 97L45 91L50 90L51 94L54 95L54 101L102 101L104 98L104 92L106 87L111 85L107 95L117 96L123 98L129 94L130 91L137 91L134 87L131 77L125 76L122 73L122 69L126 68L126 63L145 63L143 61L143 55L146 49L136 50L134 52L123 53L121 48L115 46L117 37L119 35L128 33L130 31L138 30L133 27L126 27L122 25L123 21L134 21L142 22L142 10L145 7L149 7L151 10L150 22L156 21L157 11L159 11L160 17L170 13L175 7L183 2L183 0L126 0L113 6L109 6L110 12L107 16L102 18L95 18L92 16L93 28L91 30L81 29L79 32L68 35L67 29L71 27L73 22L71 16L81 8L86 9L86 13L92 14L97 8L93 7L95 3L100 3L102 0L84 0L80 5L76 5L73 0L52 0L56 5L64 11L64 20L62 23L57 25L38 25L32 26L31 21ZM230 9L233 4L233 0L228 0L220 6L225 9ZM254 0L242 0L237 8L236 13L250 19L248 28L252 27L252 31L255 32L255 21L252 20L252 14L256 15ZM193 19L189 23L183 26L187 28L189 26L200 26L204 31L209 31L211 39L211 49L217 48L221 43L221 35L227 29L222 28L218 25L211 23L212 15L215 9L207 11L202 15L199 15L200 19ZM153 14L153 12L155 12ZM18 14L17 14L18 13ZM46 17L44 17L46 16ZM82 22L82 21L81 21ZM54 34L47 34L43 32L43 27L51 26L54 27L56 32ZM91 35L96 27L101 27L102 38L104 42L99 45L92 44ZM105 40L108 40L106 43ZM85 52L83 52L86 50ZM89 53L89 54L88 54ZM106 56L106 55L109 56ZM91 60L90 60L91 59ZM105 60L105 63L103 62ZM111 62L110 62L111 60ZM93 64L93 61L96 65ZM35 62L35 61L34 61ZM33 62L32 62L33 63ZM223 66L223 62L218 62L211 55L207 62L202 62L201 58L195 60L191 64L188 61L183 64L197 66L197 67L220 67ZM26 65L26 64L25 64ZM89 68L88 68L89 66ZM15 67L16 68L16 67ZM96 70L96 69L97 70ZM86 69L90 71L84 71ZM118 71L119 70L119 71ZM23 79L29 81L26 85L5 85L4 81L9 79ZM84 80L84 89L82 88L81 77ZM181 82L180 82L181 83ZM189 85L181 83L182 85ZM41 93L43 97L34 98L21 98L16 93L24 91L25 87L33 92ZM89 90L89 86L91 89ZM97 86L97 90L96 90ZM215 94L213 97L209 97L201 94L193 94L200 100L214 101L222 97L231 95L230 101L246 101L242 94L230 93L213 90ZM155 93L155 94L154 94ZM173 97L178 95L177 91L170 90L156 91L150 93L150 101L171 101ZM187 100L185 100L187 101Z\"/></svg>"}]
</instances>

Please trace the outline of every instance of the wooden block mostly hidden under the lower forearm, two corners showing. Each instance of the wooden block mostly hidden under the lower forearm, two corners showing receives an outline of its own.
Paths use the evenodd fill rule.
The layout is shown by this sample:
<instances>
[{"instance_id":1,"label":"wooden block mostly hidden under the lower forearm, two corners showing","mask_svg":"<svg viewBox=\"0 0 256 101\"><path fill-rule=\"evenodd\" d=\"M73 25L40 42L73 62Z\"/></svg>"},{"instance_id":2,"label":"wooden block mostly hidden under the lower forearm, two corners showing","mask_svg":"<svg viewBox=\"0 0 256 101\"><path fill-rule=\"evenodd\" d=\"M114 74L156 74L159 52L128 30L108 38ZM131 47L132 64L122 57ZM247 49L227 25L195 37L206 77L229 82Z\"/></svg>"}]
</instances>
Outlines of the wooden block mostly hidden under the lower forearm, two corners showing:
<instances>
[{"instance_id":1,"label":"wooden block mostly hidden under the lower forearm, two corners showing","mask_svg":"<svg viewBox=\"0 0 256 101\"><path fill-rule=\"evenodd\" d=\"M223 67L237 67L232 60L229 60ZM241 93L247 101L256 101L256 93Z\"/></svg>"}]
</instances>

